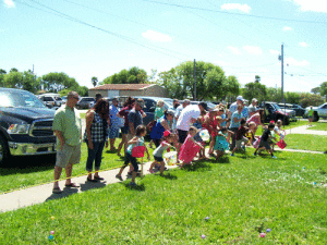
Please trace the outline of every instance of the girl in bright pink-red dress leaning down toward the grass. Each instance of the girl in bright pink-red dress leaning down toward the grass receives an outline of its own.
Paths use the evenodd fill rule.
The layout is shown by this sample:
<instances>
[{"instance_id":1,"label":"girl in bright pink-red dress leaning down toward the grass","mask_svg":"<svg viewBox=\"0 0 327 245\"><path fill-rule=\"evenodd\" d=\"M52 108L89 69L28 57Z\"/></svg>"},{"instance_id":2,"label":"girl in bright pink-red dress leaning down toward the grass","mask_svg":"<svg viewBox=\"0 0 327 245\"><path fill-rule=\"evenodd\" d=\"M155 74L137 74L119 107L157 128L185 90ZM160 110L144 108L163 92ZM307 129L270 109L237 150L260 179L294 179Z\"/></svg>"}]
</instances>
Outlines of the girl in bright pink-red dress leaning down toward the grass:
<instances>
[{"instance_id":1,"label":"girl in bright pink-red dress leaning down toward the grass","mask_svg":"<svg viewBox=\"0 0 327 245\"><path fill-rule=\"evenodd\" d=\"M193 158L196 156L198 150L204 147L194 140L194 136L196 135L197 130L194 126L191 126L189 130L187 137L185 138L184 144L181 146L179 159L183 161L181 164L181 168L183 168L185 164L191 164Z\"/></svg>"}]
</instances>

